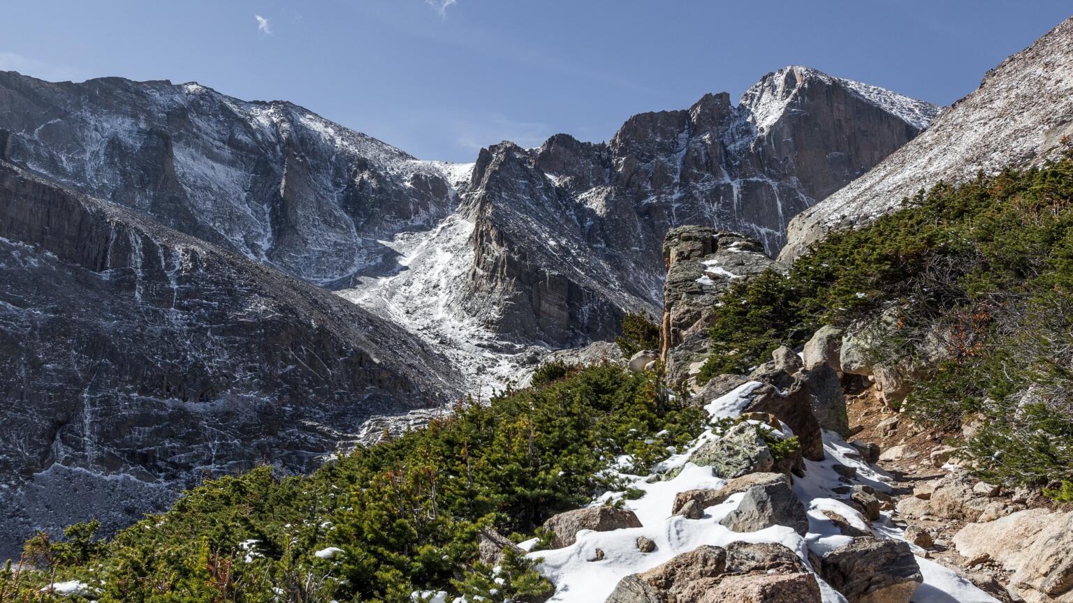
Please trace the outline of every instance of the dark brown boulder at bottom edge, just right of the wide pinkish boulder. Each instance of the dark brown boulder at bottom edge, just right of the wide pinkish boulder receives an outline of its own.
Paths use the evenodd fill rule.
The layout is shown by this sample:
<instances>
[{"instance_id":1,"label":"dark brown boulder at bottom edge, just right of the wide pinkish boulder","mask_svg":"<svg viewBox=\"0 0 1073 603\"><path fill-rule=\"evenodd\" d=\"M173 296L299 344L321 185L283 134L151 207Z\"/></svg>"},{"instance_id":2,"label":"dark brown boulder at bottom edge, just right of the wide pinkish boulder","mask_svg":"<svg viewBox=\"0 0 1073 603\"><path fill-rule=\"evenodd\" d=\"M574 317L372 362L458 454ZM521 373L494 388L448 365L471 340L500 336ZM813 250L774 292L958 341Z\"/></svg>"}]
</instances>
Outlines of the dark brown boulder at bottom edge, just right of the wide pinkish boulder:
<instances>
[{"instance_id":1,"label":"dark brown boulder at bottom edge, just right of the wide pinkish boulder","mask_svg":"<svg viewBox=\"0 0 1073 603\"><path fill-rule=\"evenodd\" d=\"M824 555L820 575L849 603L909 603L924 583L909 543L873 538Z\"/></svg>"}]
</instances>

